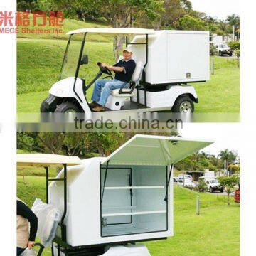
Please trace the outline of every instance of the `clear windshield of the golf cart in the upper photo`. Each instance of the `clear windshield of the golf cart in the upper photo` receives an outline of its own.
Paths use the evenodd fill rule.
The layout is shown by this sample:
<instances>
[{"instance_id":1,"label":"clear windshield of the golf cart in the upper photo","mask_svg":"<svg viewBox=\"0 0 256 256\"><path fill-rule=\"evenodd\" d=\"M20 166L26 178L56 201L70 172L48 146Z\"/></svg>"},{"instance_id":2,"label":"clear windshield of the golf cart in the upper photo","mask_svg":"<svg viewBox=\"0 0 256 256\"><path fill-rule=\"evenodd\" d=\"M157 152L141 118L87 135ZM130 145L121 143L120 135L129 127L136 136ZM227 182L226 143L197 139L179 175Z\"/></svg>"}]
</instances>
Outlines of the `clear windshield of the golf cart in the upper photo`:
<instances>
[{"instance_id":1,"label":"clear windshield of the golf cart in the upper photo","mask_svg":"<svg viewBox=\"0 0 256 256\"><path fill-rule=\"evenodd\" d=\"M75 76L83 38L84 34L70 36L65 50L63 65L60 72L60 80Z\"/></svg>"}]
</instances>

